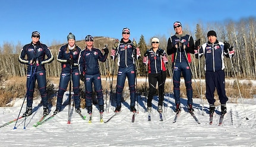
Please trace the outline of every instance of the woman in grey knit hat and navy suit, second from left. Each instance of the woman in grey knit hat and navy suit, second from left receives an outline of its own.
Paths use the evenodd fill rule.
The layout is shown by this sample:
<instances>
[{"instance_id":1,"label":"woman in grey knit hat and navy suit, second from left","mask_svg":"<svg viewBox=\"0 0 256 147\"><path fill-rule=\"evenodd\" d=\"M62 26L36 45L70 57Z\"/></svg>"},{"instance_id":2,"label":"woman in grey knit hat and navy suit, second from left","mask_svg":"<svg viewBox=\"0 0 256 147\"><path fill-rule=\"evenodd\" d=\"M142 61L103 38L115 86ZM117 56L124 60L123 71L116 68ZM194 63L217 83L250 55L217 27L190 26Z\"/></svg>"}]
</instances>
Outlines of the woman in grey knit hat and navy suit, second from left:
<instances>
[{"instance_id":1,"label":"woman in grey knit hat and navy suit, second from left","mask_svg":"<svg viewBox=\"0 0 256 147\"><path fill-rule=\"evenodd\" d=\"M61 76L59 79L59 91L57 96L56 110L53 114L57 114L62 110L62 99L67 90L68 82L72 74L72 86L74 92L75 112L81 113L80 110L80 74L78 70L78 56L81 48L75 44L75 35L69 32L68 44L59 48L57 60L61 63ZM71 68L72 67L72 68Z\"/></svg>"}]
</instances>

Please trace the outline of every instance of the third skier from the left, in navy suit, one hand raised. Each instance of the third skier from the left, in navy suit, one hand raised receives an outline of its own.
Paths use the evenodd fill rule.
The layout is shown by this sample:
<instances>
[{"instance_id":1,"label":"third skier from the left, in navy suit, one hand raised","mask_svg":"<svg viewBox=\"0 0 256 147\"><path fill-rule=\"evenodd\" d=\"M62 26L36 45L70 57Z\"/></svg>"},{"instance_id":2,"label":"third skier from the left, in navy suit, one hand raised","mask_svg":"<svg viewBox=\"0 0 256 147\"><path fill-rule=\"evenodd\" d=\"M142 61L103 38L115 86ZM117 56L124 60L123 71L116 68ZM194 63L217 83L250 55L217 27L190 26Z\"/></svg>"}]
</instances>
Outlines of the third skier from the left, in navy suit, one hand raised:
<instances>
[{"instance_id":1,"label":"third skier from the left, in navy suit, one hand raised","mask_svg":"<svg viewBox=\"0 0 256 147\"><path fill-rule=\"evenodd\" d=\"M93 84L94 90L97 94L97 99L99 103L99 112L104 112L104 100L102 93L102 81L100 78L100 69L99 62L105 62L109 49L103 49L105 54L93 47L93 37L91 35L86 36L86 48L80 52L78 63L79 63L79 72L80 79L84 81L86 87L86 107L89 114L92 113L92 95L93 95Z\"/></svg>"}]
</instances>

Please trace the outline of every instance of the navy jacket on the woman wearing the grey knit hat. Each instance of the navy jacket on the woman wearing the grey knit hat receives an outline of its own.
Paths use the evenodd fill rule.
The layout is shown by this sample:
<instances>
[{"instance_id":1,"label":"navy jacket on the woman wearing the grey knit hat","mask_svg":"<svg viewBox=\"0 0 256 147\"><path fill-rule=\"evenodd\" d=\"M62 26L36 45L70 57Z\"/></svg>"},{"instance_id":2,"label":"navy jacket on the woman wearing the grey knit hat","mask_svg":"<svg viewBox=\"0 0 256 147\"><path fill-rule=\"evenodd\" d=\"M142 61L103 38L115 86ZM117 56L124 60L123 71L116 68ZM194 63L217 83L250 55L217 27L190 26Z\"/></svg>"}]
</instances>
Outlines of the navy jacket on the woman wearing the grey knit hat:
<instances>
[{"instance_id":1,"label":"navy jacket on the woman wearing the grey knit hat","mask_svg":"<svg viewBox=\"0 0 256 147\"><path fill-rule=\"evenodd\" d=\"M78 57L81 52L81 48L75 45L75 48L72 50L67 50L68 44L63 45L59 48L57 61L61 63L62 72L68 73L70 72L70 65L67 63L69 58L73 58L74 66L72 66L72 71L78 71Z\"/></svg>"}]
</instances>

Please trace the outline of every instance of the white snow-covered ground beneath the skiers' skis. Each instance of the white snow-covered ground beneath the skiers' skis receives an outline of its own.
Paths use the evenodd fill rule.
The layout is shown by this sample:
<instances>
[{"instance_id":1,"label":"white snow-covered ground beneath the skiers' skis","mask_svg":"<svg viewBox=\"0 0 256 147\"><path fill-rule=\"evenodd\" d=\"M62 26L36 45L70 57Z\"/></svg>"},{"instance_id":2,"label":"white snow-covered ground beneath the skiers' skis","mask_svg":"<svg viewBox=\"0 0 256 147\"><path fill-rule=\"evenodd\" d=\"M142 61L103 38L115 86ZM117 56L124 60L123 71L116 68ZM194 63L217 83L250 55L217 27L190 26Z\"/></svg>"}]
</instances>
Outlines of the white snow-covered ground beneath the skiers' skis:
<instances>
[{"instance_id":1,"label":"white snow-covered ground beneath the skiers' skis","mask_svg":"<svg viewBox=\"0 0 256 147\"><path fill-rule=\"evenodd\" d=\"M65 94L67 99L68 95ZM40 100L34 100L34 112L24 119L0 128L0 146L256 146L256 100L244 100L242 103L227 103L227 113L222 126L218 126L220 106L216 106L213 125L209 125L208 104L194 99L194 113L200 124L187 113L187 99L181 99L182 112L177 122L174 99L165 96L165 112L163 122L159 121L157 112L157 96L153 100L151 121L147 120L144 97L138 101L138 113L132 123L132 112L129 112L129 100L122 103L122 111L108 123L101 123L99 110L93 106L92 123L86 109L82 114L86 120L75 113L71 107L71 124L68 122L68 106L53 119L36 128L33 126L43 114ZM169 100L169 101L168 101ZM65 101L65 100L64 100ZM17 118L23 99L17 99L13 107L0 108L0 125ZM25 112L26 103L21 110ZM50 115L55 110L51 108ZM104 113L106 121L114 114L110 106L109 113ZM203 115L204 114L204 115ZM49 116L50 116L49 115ZM249 120L246 120L248 117Z\"/></svg>"}]
</instances>

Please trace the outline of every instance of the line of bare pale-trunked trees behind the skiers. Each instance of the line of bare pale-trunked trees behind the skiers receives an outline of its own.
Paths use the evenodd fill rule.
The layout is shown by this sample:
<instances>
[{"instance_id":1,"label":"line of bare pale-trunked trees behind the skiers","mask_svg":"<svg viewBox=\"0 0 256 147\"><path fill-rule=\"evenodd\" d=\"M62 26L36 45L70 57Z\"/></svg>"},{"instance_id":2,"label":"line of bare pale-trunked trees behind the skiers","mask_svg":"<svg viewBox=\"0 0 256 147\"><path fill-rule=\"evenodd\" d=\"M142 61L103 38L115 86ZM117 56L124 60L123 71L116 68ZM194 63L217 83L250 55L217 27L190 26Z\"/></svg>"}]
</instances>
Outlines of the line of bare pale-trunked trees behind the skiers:
<instances>
[{"instance_id":1,"label":"line of bare pale-trunked trees behind the skiers","mask_svg":"<svg viewBox=\"0 0 256 147\"><path fill-rule=\"evenodd\" d=\"M235 49L235 55L230 60L229 58L225 58L225 73L226 77L236 77L241 79L255 79L256 73L256 23L255 18L246 18L241 19L239 22L234 21L226 21L225 23L213 23L207 24L206 26L197 24L195 26L195 30L189 30L189 26L183 25L183 30L187 34L191 35L195 40L200 39L201 45L206 43L207 40L207 32L210 30L214 30L217 33L217 40L219 41L227 41L232 45ZM175 31L173 30L173 34ZM170 34L173 35L173 34ZM159 47L163 50L166 50L167 40L170 37L166 37L165 35L156 35L153 37L157 37L160 40ZM95 48L104 48L106 44L108 44L109 50L113 47L116 38L109 37L94 37L94 47ZM137 40L138 47L141 51L141 56L146 52L148 48L151 47L150 40L147 41L143 35L141 35L140 40ZM82 49L86 47L85 41L77 41L76 44L80 46ZM50 49L52 54L55 57L55 60L46 64L46 75L50 77L59 77L61 74L61 63L58 63L56 60L59 48L64 44L56 44L51 45ZM6 74L9 76L26 76L27 66L24 64L20 64L18 61L18 56L20 54L20 50L23 47L20 43L17 45L13 45L11 43L4 43L2 47L0 47L0 65L1 70L4 70ZM195 79L198 79L200 74L201 77L204 77L204 58L200 59L200 63L198 59L192 56L192 73ZM169 65L167 65L167 73L169 76L172 76L172 66L171 66L171 57L169 58ZM100 63L100 73L102 76L110 76L117 74L117 64L116 61L113 61L108 56L108 60L105 63ZM233 66L232 66L233 63ZM146 66L143 65L142 58L136 61L137 74L138 76L146 76ZM235 71L235 73L233 72Z\"/></svg>"}]
</instances>

